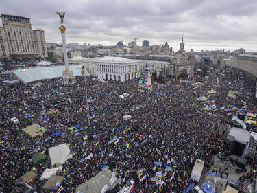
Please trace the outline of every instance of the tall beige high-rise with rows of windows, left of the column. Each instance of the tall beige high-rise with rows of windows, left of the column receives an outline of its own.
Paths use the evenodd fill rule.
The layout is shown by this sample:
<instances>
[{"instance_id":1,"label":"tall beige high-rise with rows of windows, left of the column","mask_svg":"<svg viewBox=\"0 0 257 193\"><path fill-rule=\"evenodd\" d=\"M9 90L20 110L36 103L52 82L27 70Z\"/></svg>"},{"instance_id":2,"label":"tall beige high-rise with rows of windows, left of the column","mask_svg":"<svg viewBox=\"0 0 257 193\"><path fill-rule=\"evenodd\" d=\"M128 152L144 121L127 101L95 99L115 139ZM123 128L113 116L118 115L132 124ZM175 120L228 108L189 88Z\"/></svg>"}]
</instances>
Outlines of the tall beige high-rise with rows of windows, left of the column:
<instances>
[{"instance_id":1,"label":"tall beige high-rise with rows of windows, left of the column","mask_svg":"<svg viewBox=\"0 0 257 193\"><path fill-rule=\"evenodd\" d=\"M43 30L32 30L30 18L1 14L0 58L46 58L47 45Z\"/></svg>"}]
</instances>

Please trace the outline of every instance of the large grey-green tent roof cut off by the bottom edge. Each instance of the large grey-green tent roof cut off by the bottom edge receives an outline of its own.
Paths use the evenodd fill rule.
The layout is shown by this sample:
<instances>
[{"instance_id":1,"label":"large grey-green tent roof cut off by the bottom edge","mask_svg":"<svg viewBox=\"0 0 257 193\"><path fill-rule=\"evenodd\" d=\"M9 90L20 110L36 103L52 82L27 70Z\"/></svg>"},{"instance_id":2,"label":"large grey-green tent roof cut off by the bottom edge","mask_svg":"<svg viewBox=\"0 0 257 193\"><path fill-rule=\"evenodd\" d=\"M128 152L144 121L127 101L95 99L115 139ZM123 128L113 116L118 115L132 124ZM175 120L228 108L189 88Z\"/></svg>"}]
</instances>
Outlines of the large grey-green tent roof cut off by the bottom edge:
<instances>
[{"instance_id":1,"label":"large grey-green tent roof cut off by the bottom edge","mask_svg":"<svg viewBox=\"0 0 257 193\"><path fill-rule=\"evenodd\" d=\"M83 193L99 193L103 189L103 186L108 185L108 190L114 188L117 185L117 180L110 185L110 179L112 179L112 172L107 169L103 172L99 172L95 177L82 183L77 187L77 190Z\"/></svg>"}]
</instances>

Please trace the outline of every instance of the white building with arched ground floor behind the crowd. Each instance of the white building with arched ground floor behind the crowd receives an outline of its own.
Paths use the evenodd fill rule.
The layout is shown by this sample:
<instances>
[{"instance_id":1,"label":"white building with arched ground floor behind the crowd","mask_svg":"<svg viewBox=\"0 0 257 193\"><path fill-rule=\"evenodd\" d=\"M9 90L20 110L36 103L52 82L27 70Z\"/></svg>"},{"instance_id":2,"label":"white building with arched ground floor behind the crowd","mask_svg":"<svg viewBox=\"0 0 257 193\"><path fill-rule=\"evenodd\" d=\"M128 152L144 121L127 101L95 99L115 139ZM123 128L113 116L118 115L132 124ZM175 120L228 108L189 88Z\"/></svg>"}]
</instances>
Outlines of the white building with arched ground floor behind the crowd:
<instances>
[{"instance_id":1,"label":"white building with arched ground floor behind the crowd","mask_svg":"<svg viewBox=\"0 0 257 193\"><path fill-rule=\"evenodd\" d=\"M104 56L95 60L99 80L116 80L125 82L140 77L142 61L120 57Z\"/></svg>"}]
</instances>

